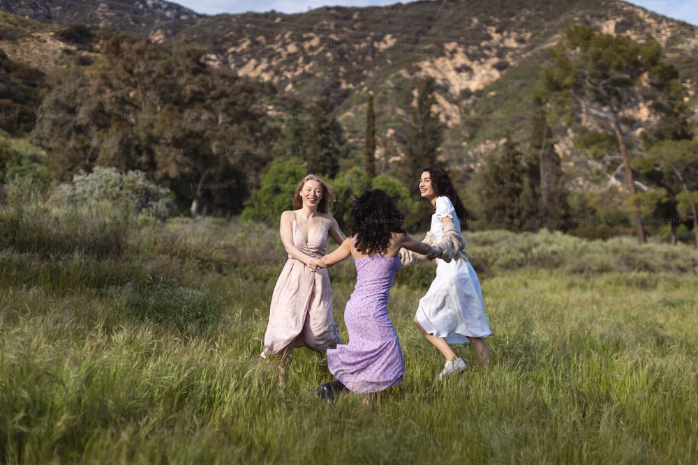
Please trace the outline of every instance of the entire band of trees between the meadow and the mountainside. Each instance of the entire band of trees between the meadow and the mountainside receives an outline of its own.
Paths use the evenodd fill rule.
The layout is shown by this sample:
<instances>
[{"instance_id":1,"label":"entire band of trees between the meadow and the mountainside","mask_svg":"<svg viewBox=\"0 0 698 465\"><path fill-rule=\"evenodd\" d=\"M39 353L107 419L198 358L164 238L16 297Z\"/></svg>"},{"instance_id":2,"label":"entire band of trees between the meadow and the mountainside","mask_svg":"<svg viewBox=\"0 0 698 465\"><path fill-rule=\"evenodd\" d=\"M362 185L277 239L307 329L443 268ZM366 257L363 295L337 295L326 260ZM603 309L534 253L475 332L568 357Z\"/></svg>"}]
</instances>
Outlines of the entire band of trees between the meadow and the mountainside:
<instances>
[{"instance_id":1,"label":"entire band of trees between the meadow and the mountainside","mask_svg":"<svg viewBox=\"0 0 698 465\"><path fill-rule=\"evenodd\" d=\"M553 66L538 71L539 89L521 114L529 121L523 136L501 128L504 139L473 167L440 159L443 89L431 77L393 90L408 107L395 128L399 146L389 150L376 134L389 109L373 93L359 105L366 123L357 141L346 137L332 95L297 100L263 79L211 66L193 42L165 49L79 25L56 37L84 52L64 50L73 65L51 76L0 54L0 110L12 116L0 126L14 136L0 141L3 182L29 176L47 186L98 166L142 171L172 192L180 214L244 213L273 223L290 208L297 180L314 172L334 183L341 223L351 195L383 186L402 198L408 229L418 230L429 216L418 171L441 162L475 229L589 238L634 229L641 243L651 234L676 243L693 230L698 243L690 107L678 72L652 40L567 29L565 47L548 51ZM638 119L638 108L651 116ZM580 183L558 153L570 128L574 150L595 164L606 188Z\"/></svg>"}]
</instances>

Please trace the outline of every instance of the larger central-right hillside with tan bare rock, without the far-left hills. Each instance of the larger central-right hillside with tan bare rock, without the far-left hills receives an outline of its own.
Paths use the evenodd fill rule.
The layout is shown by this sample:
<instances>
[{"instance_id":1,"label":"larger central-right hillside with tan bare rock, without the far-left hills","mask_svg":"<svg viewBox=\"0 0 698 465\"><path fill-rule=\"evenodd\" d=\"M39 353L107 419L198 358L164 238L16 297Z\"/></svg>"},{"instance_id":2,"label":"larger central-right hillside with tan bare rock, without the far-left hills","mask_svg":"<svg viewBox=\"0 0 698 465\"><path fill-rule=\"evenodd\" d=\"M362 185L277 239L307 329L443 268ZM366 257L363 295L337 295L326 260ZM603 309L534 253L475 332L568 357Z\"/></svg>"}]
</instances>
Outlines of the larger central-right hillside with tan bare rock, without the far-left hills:
<instances>
[{"instance_id":1,"label":"larger central-right hillside with tan bare rock, without the far-left hills","mask_svg":"<svg viewBox=\"0 0 698 465\"><path fill-rule=\"evenodd\" d=\"M366 93L373 91L383 148L402 142L415 79L434 77L435 110L447 127L443 155L473 162L472 155L495 144L505 128L528 130L530 93L550 63L547 48L578 23L635 40L655 38L685 85L695 86L698 28L622 1L418 1L300 15L220 15L172 38L160 36L161 43L184 38L207 50L211 65L249 82L270 81L300 100L330 96L357 144Z\"/></svg>"}]
</instances>

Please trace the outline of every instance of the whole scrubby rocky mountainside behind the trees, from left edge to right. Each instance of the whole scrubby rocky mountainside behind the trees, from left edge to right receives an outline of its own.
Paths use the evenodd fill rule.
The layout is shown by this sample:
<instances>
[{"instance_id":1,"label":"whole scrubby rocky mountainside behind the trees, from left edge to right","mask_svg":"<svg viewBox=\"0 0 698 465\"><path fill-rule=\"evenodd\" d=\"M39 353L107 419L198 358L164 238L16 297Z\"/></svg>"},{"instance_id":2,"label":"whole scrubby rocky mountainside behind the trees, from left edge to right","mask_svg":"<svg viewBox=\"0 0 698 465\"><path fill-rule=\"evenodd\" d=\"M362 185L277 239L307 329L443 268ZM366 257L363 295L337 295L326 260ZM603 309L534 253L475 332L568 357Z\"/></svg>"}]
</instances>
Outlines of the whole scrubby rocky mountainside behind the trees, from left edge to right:
<instances>
[{"instance_id":1,"label":"whole scrubby rocky mountainside behind the trees, from left edge to right","mask_svg":"<svg viewBox=\"0 0 698 465\"><path fill-rule=\"evenodd\" d=\"M288 102L302 106L328 98L354 155L361 153L366 95L373 91L378 155L385 162L401 153L417 79L427 76L438 84L433 110L445 126L447 162L474 169L506 131L525 141L540 70L551 63L549 48L560 46L561 31L572 24L658 40L694 101L698 76L698 28L623 1L417 1L214 17L157 0L0 0L0 7L52 25L20 24L16 16L14 25L4 21L0 47L11 59L42 70L61 59L68 66L65 54L56 53L66 51L56 31L75 22L91 24L96 36L117 29L163 49L184 42L205 52L210 66L232 70L245 84L272 83L279 97L268 102L270 120L283 122ZM99 56L98 40L94 49L67 48L89 60ZM574 155L571 133L557 130L563 156Z\"/></svg>"}]
</instances>

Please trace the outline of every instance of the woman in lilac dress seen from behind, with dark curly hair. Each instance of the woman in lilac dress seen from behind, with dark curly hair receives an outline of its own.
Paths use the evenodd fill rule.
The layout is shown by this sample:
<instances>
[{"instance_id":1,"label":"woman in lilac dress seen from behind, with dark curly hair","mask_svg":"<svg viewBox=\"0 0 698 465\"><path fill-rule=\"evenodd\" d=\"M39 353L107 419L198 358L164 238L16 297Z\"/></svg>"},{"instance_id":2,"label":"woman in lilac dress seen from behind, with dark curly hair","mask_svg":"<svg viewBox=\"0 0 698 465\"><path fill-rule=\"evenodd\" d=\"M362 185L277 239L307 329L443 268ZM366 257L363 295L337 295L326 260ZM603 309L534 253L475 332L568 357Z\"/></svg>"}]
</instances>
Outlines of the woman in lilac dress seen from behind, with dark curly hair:
<instances>
[{"instance_id":1,"label":"woman in lilac dress seen from behind, with dark curly hair","mask_svg":"<svg viewBox=\"0 0 698 465\"><path fill-rule=\"evenodd\" d=\"M402 381L405 372L402 349L387 314L393 277L400 269L398 252L406 247L428 257L440 250L408 236L404 215L383 190L364 192L351 202L347 238L334 252L313 260L311 269L332 266L354 257L357 281L344 310L349 344L327 349L327 366L337 379L318 388L321 398L350 390L373 400L377 392Z\"/></svg>"}]
</instances>

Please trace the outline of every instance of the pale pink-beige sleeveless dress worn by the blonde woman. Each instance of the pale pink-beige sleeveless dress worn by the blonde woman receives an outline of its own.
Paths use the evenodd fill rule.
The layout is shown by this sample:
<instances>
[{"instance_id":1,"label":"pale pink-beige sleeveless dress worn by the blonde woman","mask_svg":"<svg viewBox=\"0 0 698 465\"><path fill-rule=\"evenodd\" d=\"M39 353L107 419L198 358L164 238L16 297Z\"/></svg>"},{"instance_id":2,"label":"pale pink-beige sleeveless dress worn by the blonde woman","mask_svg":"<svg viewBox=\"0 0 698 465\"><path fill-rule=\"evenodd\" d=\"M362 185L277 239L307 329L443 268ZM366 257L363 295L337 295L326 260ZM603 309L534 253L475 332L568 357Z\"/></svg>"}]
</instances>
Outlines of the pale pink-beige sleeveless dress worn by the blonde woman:
<instances>
[{"instance_id":1,"label":"pale pink-beige sleeveless dress worn by the blonde woman","mask_svg":"<svg viewBox=\"0 0 698 465\"><path fill-rule=\"evenodd\" d=\"M317 258L325 255L328 231L324 222L307 243L295 220L292 228L293 243L301 252ZM297 338L315 351L335 347L341 341L334 321L327 268L318 268L313 273L306 264L289 255L272 294L262 357L297 345L292 344Z\"/></svg>"}]
</instances>

